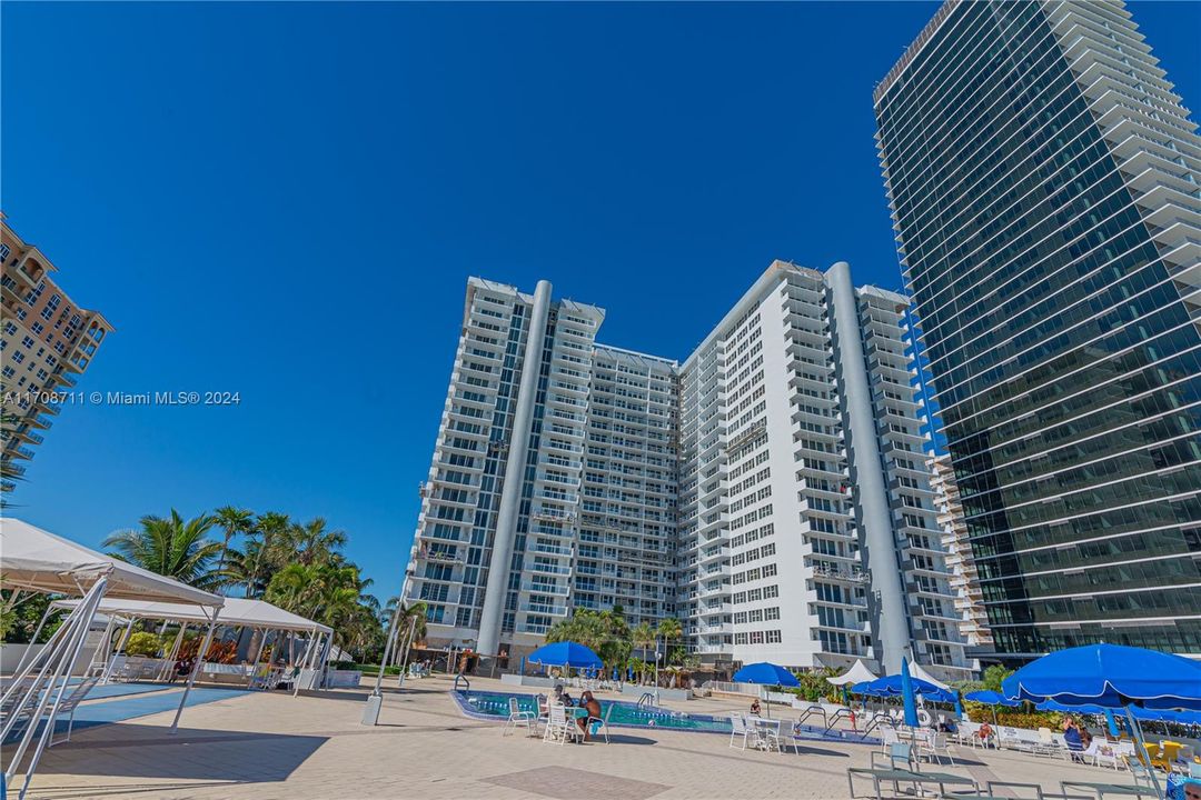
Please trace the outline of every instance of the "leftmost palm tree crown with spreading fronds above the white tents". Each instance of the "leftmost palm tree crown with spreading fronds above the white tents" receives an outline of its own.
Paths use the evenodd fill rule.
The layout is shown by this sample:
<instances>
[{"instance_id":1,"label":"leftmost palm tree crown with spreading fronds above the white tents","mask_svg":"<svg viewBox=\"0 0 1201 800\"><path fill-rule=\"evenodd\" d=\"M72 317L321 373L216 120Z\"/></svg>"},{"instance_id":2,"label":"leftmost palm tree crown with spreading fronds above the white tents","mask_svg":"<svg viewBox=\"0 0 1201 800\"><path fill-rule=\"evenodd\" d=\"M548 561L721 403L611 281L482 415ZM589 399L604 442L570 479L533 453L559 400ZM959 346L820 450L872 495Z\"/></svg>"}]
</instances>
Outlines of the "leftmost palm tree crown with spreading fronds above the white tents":
<instances>
[{"instance_id":1,"label":"leftmost palm tree crown with spreading fronds above the white tents","mask_svg":"<svg viewBox=\"0 0 1201 800\"><path fill-rule=\"evenodd\" d=\"M185 522L172 509L169 518L145 516L141 524L106 539L103 547L113 548L109 555L201 589L223 584L225 577L211 567L221 553L221 543L209 540L215 517L201 515Z\"/></svg>"}]
</instances>

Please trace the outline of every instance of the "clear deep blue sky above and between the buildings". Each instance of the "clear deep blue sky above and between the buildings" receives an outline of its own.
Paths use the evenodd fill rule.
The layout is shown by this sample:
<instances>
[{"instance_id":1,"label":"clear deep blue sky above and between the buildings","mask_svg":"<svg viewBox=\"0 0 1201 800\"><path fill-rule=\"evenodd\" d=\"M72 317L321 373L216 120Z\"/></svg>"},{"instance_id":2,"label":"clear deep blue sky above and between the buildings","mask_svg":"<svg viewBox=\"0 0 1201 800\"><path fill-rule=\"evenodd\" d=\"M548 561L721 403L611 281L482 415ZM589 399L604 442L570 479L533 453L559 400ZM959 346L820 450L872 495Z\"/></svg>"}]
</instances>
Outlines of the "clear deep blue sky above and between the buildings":
<instances>
[{"instance_id":1,"label":"clear deep blue sky above and between the buildings","mask_svg":"<svg viewBox=\"0 0 1201 800\"><path fill-rule=\"evenodd\" d=\"M900 285L872 86L930 2L2 6L2 204L116 326L14 512L233 503L400 587L468 275L683 357L773 258ZM1185 103L1196 4L1136 2Z\"/></svg>"}]
</instances>

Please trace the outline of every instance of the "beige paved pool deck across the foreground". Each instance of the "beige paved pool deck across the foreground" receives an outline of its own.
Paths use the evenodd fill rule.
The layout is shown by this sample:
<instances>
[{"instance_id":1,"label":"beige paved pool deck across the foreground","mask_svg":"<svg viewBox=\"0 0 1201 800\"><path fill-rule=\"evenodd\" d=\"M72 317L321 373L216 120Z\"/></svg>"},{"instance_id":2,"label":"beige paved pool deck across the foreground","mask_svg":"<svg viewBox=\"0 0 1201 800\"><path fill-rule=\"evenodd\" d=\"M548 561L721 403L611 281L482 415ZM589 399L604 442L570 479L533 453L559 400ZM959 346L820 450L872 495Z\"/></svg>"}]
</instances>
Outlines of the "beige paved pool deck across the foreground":
<instances>
[{"instance_id":1,"label":"beige paved pool deck across the foreground","mask_svg":"<svg viewBox=\"0 0 1201 800\"><path fill-rule=\"evenodd\" d=\"M395 680L387 684L380 724L374 728L359 723L370 688L364 681L359 691L297 698L255 692L208 702L184 712L175 736L167 735L171 712L77 730L70 744L47 751L30 796L844 799L847 768L866 766L871 750L814 741L800 754L763 753L730 748L728 736L719 734L664 728L615 728L609 745L549 745L521 732L502 736L497 723L464 716L447 694L446 678L406 681L402 691L394 688ZM512 687L473 679L472 688ZM668 705L728 714L743 710L746 703L729 698ZM6 760L10 753L6 747ZM969 775L981 783L1040 783L1044 792L1056 794L1062 780L1129 781L1125 772L1020 753L962 754L966 765L938 771ZM871 786L856 789L862 794Z\"/></svg>"}]
</instances>

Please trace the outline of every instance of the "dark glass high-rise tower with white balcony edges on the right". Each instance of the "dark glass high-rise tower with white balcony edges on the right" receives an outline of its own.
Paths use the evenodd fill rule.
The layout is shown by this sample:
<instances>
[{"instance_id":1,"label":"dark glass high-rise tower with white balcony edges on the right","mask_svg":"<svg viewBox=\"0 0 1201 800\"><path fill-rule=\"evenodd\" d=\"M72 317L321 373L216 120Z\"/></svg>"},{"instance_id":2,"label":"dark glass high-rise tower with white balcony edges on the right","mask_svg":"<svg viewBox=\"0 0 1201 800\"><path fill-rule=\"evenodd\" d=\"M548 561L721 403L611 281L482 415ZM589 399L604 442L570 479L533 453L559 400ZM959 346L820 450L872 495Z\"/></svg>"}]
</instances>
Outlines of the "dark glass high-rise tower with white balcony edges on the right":
<instances>
[{"instance_id":1,"label":"dark glass high-rise tower with white balcony edges on the right","mask_svg":"<svg viewBox=\"0 0 1201 800\"><path fill-rule=\"evenodd\" d=\"M949 1L876 114L997 651L1201 654L1201 140L1151 48Z\"/></svg>"}]
</instances>

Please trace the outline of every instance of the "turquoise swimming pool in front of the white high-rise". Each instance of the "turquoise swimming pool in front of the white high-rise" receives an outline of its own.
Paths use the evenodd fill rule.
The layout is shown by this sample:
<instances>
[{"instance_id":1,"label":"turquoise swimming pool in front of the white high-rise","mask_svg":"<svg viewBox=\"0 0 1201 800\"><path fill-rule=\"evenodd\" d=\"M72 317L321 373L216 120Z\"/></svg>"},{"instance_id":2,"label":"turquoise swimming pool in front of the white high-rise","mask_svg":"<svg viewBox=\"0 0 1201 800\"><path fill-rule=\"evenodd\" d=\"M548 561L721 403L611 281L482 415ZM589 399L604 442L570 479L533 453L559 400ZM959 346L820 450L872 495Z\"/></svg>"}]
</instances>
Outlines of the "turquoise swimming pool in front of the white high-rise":
<instances>
[{"instance_id":1,"label":"turquoise swimming pool in front of the white high-rise","mask_svg":"<svg viewBox=\"0 0 1201 800\"><path fill-rule=\"evenodd\" d=\"M536 694L521 694L516 692L480 692L458 691L450 692L459 703L459 709L467 716L479 720L507 720L509 716L509 698L515 697L518 706L522 711L538 711L538 699ZM599 699L599 698L598 698ZM623 728L668 728L669 730L695 730L700 733L730 733L730 720L728 716L712 716L709 714L685 714L669 709L651 709L639 706L637 703L625 700L599 700L600 710L609 712L613 705L613 715L609 723L614 727ZM823 730L819 727L802 724L797 728L801 739L813 739L817 741L843 741L855 744L876 744L874 739L861 739L858 734L848 734L843 730Z\"/></svg>"}]
</instances>

